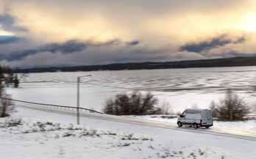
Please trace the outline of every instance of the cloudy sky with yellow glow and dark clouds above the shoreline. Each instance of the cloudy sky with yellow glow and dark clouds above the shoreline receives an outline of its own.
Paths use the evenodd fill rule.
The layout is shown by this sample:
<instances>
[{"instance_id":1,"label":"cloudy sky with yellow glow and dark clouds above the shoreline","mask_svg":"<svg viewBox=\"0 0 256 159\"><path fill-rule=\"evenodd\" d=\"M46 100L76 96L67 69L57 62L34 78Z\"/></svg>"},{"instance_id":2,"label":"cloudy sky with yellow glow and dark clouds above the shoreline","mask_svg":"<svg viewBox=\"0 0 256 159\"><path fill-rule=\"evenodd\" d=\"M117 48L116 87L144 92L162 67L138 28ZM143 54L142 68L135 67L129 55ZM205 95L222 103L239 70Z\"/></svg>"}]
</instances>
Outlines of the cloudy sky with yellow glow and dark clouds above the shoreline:
<instances>
[{"instance_id":1,"label":"cloudy sky with yellow glow and dark clouds above the shoreline","mask_svg":"<svg viewBox=\"0 0 256 159\"><path fill-rule=\"evenodd\" d=\"M255 0L0 0L0 64L253 56Z\"/></svg>"}]
</instances>

